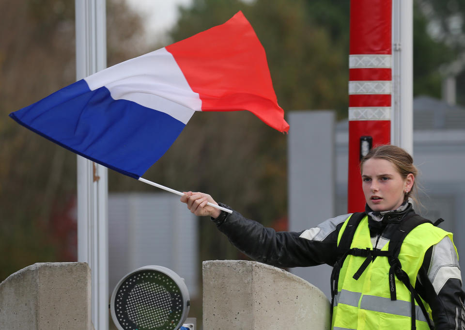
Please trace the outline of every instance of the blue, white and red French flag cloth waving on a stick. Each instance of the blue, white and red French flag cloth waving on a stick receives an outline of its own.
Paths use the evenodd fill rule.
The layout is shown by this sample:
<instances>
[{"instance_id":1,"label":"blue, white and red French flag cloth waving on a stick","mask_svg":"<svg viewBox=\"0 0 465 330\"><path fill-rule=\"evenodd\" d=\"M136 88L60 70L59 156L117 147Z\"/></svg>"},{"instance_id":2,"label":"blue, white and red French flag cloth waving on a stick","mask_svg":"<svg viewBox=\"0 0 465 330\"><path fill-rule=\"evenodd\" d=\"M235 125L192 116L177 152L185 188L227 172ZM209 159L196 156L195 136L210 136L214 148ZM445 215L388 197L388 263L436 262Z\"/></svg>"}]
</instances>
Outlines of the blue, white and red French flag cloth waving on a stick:
<instances>
[{"instance_id":1,"label":"blue, white and red French flag cloth waving on a stick","mask_svg":"<svg viewBox=\"0 0 465 330\"><path fill-rule=\"evenodd\" d=\"M265 51L239 12L222 25L81 79L21 110L19 124L140 178L194 111L248 110L287 132Z\"/></svg>"}]
</instances>

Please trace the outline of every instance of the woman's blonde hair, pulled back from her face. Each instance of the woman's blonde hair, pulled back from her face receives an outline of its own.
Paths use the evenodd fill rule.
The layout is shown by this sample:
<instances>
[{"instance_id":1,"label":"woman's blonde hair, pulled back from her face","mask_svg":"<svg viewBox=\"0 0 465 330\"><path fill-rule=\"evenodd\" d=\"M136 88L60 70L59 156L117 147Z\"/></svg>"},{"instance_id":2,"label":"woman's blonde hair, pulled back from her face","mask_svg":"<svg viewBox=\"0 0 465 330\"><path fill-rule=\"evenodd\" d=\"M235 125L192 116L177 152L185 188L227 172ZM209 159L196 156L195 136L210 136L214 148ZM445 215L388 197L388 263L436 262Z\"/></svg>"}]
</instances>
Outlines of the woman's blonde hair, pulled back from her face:
<instances>
[{"instance_id":1,"label":"woman's blonde hair, pulled back from her face","mask_svg":"<svg viewBox=\"0 0 465 330\"><path fill-rule=\"evenodd\" d=\"M386 159L390 161L397 169L397 172L401 174L403 179L406 179L408 174L413 174L415 180L413 181L412 189L409 192L404 193L403 201L405 202L409 198L412 198L416 204L419 203L417 199L418 188L416 180L418 169L415 165L413 165L413 157L410 156L408 152L395 145L380 145L370 150L368 154L362 158L360 161L360 172L362 171L363 164L370 158Z\"/></svg>"}]
</instances>

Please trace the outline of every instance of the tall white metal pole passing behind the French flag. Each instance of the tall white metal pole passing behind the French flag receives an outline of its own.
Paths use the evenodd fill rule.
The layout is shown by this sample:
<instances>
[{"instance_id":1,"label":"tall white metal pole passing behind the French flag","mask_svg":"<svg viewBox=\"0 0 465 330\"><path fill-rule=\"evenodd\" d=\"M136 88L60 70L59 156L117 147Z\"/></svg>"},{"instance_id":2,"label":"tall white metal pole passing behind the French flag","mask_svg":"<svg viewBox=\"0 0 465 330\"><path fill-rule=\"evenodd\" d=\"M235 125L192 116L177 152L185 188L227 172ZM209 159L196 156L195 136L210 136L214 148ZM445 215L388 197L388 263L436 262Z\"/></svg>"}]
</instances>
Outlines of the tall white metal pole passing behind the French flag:
<instances>
[{"instance_id":1,"label":"tall white metal pole passing behind the French flag","mask_svg":"<svg viewBox=\"0 0 465 330\"><path fill-rule=\"evenodd\" d=\"M75 0L76 77L107 66L105 0ZM78 261L92 273L92 322L109 329L108 303L108 170L78 156Z\"/></svg>"}]
</instances>

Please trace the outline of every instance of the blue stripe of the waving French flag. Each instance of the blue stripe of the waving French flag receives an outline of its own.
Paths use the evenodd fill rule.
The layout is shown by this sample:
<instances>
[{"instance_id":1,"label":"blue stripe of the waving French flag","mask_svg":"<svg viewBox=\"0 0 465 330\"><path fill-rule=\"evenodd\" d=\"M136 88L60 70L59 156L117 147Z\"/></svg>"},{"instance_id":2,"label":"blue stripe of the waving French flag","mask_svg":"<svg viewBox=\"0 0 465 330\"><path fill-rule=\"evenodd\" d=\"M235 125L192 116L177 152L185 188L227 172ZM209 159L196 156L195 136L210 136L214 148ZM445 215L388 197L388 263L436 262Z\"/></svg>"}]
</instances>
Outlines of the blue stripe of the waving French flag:
<instances>
[{"instance_id":1,"label":"blue stripe of the waving French flag","mask_svg":"<svg viewBox=\"0 0 465 330\"><path fill-rule=\"evenodd\" d=\"M114 100L84 79L10 113L74 153L138 179L170 148L184 123L133 101Z\"/></svg>"}]
</instances>

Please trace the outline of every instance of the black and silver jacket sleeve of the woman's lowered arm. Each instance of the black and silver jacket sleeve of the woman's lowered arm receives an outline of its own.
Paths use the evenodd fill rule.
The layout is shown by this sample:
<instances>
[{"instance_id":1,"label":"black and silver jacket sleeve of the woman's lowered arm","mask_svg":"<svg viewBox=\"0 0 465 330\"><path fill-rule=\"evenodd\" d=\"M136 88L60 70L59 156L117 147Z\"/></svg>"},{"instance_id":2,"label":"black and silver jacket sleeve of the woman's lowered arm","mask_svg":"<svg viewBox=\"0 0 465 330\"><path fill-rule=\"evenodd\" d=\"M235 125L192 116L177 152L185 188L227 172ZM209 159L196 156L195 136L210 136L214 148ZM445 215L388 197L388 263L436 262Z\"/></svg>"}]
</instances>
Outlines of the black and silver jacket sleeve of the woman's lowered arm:
<instances>
[{"instance_id":1,"label":"black and silver jacket sleeve of the woman's lowered arm","mask_svg":"<svg viewBox=\"0 0 465 330\"><path fill-rule=\"evenodd\" d=\"M431 307L434 329L465 329L465 292L457 253L448 236L426 252L418 277L419 293Z\"/></svg>"}]
</instances>

